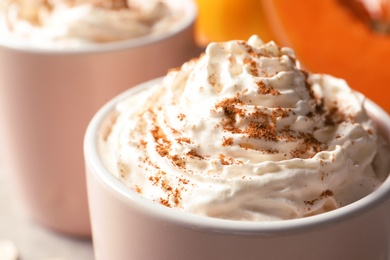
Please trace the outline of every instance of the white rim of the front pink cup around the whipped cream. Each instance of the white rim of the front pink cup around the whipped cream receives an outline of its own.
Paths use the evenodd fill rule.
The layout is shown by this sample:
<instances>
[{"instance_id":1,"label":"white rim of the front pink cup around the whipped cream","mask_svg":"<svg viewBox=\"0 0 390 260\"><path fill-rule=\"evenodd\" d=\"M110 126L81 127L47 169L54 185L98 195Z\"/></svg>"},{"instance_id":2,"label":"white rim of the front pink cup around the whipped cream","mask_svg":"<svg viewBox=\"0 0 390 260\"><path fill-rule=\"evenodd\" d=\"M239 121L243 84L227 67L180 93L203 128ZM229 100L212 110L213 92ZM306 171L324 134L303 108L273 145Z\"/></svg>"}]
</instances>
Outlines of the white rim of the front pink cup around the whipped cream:
<instances>
[{"instance_id":1,"label":"white rim of the front pink cup around the whipped cream","mask_svg":"<svg viewBox=\"0 0 390 260\"><path fill-rule=\"evenodd\" d=\"M389 200L390 177L387 177L387 179L372 193L336 210L305 218L254 222L200 216L183 212L179 209L168 208L142 197L137 192L129 189L106 169L99 156L97 133L110 113L114 112L115 105L119 101L124 100L129 95L142 91L148 86L150 87L161 82L161 80L162 77L146 81L111 99L93 116L84 137L84 157L86 167L89 169L88 174L93 175L93 178L97 179L105 189L109 190L122 202L128 205L131 204L131 207L143 211L155 218L157 217L167 223L187 226L196 230L212 231L222 234L274 236L305 232L334 225L335 223L355 218ZM380 123L382 124L381 127L389 129L388 133L390 133L390 116L369 99L366 99L364 106L369 116L376 120L380 119ZM385 137L389 141L390 134Z\"/></svg>"}]
</instances>

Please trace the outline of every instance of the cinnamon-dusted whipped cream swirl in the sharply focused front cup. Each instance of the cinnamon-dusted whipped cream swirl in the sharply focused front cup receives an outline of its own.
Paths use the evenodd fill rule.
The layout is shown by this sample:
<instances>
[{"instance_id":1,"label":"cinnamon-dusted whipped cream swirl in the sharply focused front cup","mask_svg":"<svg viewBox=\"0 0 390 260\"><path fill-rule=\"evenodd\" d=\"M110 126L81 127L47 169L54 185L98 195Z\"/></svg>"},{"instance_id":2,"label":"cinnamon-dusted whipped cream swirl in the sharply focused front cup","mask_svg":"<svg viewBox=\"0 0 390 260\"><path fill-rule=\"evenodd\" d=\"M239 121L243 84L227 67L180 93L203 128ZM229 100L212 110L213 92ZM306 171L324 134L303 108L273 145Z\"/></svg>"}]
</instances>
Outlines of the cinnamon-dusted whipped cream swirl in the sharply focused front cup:
<instances>
[{"instance_id":1,"label":"cinnamon-dusted whipped cream swirl in the sharply focused front cup","mask_svg":"<svg viewBox=\"0 0 390 260\"><path fill-rule=\"evenodd\" d=\"M101 155L167 207L250 221L310 216L362 198L389 173L363 102L273 42L211 43L118 104Z\"/></svg>"}]
</instances>

